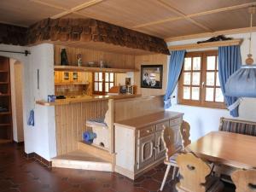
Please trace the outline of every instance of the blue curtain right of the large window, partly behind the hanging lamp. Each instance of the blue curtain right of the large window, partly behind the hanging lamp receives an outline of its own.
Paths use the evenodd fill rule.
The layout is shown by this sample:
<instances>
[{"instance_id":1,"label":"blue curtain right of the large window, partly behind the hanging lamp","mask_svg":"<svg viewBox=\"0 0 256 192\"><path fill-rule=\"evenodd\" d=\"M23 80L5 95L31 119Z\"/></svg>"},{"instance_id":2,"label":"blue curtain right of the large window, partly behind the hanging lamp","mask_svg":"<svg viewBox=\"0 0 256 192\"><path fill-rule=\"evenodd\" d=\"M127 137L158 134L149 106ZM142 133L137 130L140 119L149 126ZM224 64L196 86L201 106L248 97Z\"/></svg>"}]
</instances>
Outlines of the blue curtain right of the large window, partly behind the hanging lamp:
<instances>
[{"instance_id":1,"label":"blue curtain right of the large window, partly behind the hanging lamp","mask_svg":"<svg viewBox=\"0 0 256 192\"><path fill-rule=\"evenodd\" d=\"M225 96L225 84L230 76L241 67L240 46L227 46L218 48L218 77L226 105L229 107L237 101L236 96ZM230 110L233 117L238 117L238 106Z\"/></svg>"}]
</instances>

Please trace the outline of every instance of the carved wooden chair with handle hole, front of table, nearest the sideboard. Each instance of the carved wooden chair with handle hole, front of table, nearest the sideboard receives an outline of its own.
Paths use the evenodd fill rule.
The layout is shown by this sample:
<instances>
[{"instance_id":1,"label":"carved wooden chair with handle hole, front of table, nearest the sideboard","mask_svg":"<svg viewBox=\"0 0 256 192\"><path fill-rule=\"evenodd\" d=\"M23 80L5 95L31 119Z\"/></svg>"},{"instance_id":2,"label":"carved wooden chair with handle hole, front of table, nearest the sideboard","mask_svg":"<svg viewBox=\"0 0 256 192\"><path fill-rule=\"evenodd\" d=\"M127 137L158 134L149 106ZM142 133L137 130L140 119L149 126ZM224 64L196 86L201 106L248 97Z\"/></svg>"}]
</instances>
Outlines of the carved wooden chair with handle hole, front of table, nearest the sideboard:
<instances>
[{"instance_id":1,"label":"carved wooden chair with handle hole, front of table, nearest the sideboard","mask_svg":"<svg viewBox=\"0 0 256 192\"><path fill-rule=\"evenodd\" d=\"M195 154L178 154L181 179L176 184L178 192L218 192L224 184L218 177L212 176L212 169L206 162L197 158Z\"/></svg>"}]
</instances>

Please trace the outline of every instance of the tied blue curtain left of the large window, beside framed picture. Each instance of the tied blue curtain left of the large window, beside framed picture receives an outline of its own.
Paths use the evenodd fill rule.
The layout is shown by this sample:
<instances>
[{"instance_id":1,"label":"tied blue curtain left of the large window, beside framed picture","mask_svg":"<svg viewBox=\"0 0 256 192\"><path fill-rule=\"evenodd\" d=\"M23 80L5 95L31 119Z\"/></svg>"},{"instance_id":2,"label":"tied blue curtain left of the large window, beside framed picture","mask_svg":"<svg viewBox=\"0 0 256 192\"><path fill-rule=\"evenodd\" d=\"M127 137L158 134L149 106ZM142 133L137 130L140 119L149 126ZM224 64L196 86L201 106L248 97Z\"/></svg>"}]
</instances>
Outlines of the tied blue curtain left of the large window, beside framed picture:
<instances>
[{"instance_id":1,"label":"tied blue curtain left of the large window, beside framed picture","mask_svg":"<svg viewBox=\"0 0 256 192\"><path fill-rule=\"evenodd\" d=\"M183 68L183 60L185 50L172 51L169 61L169 72L168 72L168 84L166 89L166 95L164 96L165 108L170 108L171 95L177 84L177 79Z\"/></svg>"}]
</instances>

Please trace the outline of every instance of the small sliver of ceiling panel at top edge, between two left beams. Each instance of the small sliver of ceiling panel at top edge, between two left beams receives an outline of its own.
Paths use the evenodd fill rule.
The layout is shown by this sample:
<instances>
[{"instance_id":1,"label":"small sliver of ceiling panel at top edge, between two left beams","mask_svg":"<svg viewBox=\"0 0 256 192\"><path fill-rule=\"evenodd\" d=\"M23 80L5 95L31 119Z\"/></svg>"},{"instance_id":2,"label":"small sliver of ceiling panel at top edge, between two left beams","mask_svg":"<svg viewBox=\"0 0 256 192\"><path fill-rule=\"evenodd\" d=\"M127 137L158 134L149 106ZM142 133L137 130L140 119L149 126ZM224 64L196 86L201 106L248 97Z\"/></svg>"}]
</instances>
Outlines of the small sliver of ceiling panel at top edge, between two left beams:
<instances>
[{"instance_id":1,"label":"small sliver of ceiling panel at top edge, between two left beams","mask_svg":"<svg viewBox=\"0 0 256 192\"><path fill-rule=\"evenodd\" d=\"M91 0L31 0L47 3L49 5L58 6L65 9L72 9L73 7L79 6L82 3L90 2Z\"/></svg>"}]
</instances>

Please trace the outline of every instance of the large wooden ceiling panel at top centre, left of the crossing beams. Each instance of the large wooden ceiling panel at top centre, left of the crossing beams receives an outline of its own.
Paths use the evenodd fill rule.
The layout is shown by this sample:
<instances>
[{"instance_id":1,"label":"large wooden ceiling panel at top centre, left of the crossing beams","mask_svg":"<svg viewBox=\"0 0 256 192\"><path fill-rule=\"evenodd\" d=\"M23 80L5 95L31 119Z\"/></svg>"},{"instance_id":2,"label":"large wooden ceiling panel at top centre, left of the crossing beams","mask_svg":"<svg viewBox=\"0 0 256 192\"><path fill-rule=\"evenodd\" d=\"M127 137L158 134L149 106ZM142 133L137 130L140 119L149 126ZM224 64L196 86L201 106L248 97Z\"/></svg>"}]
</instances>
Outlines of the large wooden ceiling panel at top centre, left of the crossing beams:
<instances>
[{"instance_id":1,"label":"large wooden ceiling panel at top centre, left of the crossing beams","mask_svg":"<svg viewBox=\"0 0 256 192\"><path fill-rule=\"evenodd\" d=\"M155 20L177 17L170 9L155 0L111 0L98 3L79 13L96 20L103 20L114 25L132 27Z\"/></svg>"}]
</instances>

